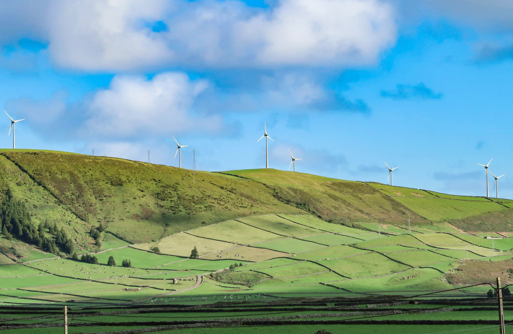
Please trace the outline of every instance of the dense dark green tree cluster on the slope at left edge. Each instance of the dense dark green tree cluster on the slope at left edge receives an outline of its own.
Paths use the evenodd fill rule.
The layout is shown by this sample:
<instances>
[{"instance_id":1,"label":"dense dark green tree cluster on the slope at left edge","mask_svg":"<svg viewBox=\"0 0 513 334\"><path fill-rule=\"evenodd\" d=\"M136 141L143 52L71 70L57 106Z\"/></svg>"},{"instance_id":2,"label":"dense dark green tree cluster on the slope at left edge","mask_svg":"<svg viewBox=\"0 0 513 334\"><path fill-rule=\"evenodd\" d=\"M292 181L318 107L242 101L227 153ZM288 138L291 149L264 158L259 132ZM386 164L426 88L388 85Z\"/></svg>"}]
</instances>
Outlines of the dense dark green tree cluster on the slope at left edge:
<instances>
[{"instance_id":1,"label":"dense dark green tree cluster on the slope at left edge","mask_svg":"<svg viewBox=\"0 0 513 334\"><path fill-rule=\"evenodd\" d=\"M45 222L36 228L25 203L15 199L10 188L0 204L0 221L0 231L8 239L16 238L56 255L59 251L67 254L73 252L73 240L63 229L58 230L55 223L51 226ZM45 229L55 238L47 237Z\"/></svg>"}]
</instances>

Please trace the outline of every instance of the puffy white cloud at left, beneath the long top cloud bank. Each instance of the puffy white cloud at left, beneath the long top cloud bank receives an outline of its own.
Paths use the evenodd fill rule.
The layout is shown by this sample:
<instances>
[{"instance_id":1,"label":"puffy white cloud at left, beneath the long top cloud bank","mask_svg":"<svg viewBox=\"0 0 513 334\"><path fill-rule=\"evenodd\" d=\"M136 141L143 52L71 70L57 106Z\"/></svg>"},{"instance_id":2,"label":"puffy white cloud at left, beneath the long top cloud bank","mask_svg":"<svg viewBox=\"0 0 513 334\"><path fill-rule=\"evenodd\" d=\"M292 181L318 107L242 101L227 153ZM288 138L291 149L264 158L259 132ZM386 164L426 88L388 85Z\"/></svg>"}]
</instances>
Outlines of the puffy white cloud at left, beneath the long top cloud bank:
<instances>
[{"instance_id":1,"label":"puffy white cloud at left, beneath the long top cloud bank","mask_svg":"<svg viewBox=\"0 0 513 334\"><path fill-rule=\"evenodd\" d=\"M206 81L192 81L178 72L161 73L151 80L116 76L87 103L90 117L84 132L103 137L218 132L223 126L220 116L195 115L192 110L194 99L206 87Z\"/></svg>"}]
</instances>

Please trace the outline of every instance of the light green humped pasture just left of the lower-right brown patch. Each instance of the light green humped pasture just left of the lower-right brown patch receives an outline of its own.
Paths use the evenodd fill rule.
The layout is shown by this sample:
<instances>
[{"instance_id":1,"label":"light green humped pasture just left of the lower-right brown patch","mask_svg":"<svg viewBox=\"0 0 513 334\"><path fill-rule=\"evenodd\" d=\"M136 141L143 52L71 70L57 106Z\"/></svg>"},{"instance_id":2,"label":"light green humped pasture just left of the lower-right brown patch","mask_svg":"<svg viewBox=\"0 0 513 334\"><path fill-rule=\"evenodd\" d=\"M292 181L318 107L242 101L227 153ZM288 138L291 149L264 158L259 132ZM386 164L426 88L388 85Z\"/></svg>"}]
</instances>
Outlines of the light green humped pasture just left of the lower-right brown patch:
<instances>
[{"instance_id":1,"label":"light green humped pasture just left of the lower-right brown patch","mask_svg":"<svg viewBox=\"0 0 513 334\"><path fill-rule=\"evenodd\" d=\"M412 268L383 277L344 280L330 285L354 292L446 290L452 286L442 280L442 274L430 268ZM428 291L431 292L431 291Z\"/></svg>"}]
</instances>

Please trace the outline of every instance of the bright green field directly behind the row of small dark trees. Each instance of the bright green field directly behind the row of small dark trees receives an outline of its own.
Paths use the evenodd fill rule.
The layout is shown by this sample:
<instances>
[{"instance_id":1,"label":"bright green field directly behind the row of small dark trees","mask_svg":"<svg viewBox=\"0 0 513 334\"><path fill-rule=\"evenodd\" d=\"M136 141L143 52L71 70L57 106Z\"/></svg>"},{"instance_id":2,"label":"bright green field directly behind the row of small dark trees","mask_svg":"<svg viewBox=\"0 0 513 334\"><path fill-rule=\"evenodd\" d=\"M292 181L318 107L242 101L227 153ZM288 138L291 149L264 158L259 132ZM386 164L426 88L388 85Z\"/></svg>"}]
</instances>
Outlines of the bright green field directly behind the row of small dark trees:
<instances>
[{"instance_id":1,"label":"bright green field directly behind the row of small dark trees","mask_svg":"<svg viewBox=\"0 0 513 334\"><path fill-rule=\"evenodd\" d=\"M98 258L98 262L102 264L107 264L109 257L113 256L116 261L116 265L118 266L121 265L123 259L128 258L130 259L132 266L138 268L153 268L183 259L183 257L179 256L160 255L131 247L113 249L93 255L96 256Z\"/></svg>"}]
</instances>

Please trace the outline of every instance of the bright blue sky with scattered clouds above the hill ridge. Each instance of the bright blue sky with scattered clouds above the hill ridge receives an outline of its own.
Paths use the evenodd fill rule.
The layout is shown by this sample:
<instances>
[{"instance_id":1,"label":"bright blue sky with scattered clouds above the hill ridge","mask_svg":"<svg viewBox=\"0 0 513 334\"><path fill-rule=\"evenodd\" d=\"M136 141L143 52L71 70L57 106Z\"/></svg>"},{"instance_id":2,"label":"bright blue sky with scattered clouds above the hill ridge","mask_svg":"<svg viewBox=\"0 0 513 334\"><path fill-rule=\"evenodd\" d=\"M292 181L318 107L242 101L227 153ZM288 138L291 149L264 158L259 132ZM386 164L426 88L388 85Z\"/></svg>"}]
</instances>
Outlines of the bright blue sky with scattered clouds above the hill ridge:
<instances>
[{"instance_id":1,"label":"bright blue sky with scattered clouds above the hill ridge","mask_svg":"<svg viewBox=\"0 0 513 334\"><path fill-rule=\"evenodd\" d=\"M4 0L16 148L513 198L513 2ZM10 120L0 147L12 148ZM490 196L495 196L490 176Z\"/></svg>"}]
</instances>

